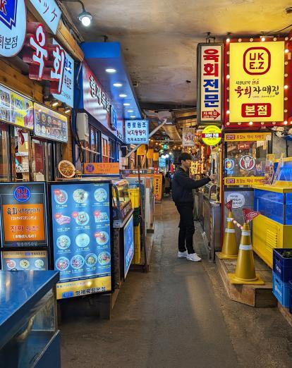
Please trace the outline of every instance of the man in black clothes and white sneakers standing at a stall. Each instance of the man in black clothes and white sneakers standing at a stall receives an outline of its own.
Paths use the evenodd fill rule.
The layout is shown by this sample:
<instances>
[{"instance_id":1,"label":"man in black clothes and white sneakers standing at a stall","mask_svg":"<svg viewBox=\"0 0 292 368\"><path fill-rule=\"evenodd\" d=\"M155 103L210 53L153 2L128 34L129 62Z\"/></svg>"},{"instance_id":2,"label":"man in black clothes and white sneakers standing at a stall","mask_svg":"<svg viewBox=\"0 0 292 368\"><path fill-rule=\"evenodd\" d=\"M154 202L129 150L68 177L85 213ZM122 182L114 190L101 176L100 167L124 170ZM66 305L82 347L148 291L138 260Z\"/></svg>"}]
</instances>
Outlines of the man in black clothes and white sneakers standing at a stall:
<instances>
[{"instance_id":1,"label":"man in black clothes and white sneakers standing at a stall","mask_svg":"<svg viewBox=\"0 0 292 368\"><path fill-rule=\"evenodd\" d=\"M190 154L184 152L178 157L181 166L174 173L172 180L172 198L178 209L181 218L179 221L178 233L178 258L186 258L189 261L199 262L202 259L195 253L193 247L193 235L195 233L194 219L193 219L193 189L200 188L214 176L200 180L193 180L189 176L189 168L192 162ZM185 249L186 247L186 249Z\"/></svg>"}]
</instances>

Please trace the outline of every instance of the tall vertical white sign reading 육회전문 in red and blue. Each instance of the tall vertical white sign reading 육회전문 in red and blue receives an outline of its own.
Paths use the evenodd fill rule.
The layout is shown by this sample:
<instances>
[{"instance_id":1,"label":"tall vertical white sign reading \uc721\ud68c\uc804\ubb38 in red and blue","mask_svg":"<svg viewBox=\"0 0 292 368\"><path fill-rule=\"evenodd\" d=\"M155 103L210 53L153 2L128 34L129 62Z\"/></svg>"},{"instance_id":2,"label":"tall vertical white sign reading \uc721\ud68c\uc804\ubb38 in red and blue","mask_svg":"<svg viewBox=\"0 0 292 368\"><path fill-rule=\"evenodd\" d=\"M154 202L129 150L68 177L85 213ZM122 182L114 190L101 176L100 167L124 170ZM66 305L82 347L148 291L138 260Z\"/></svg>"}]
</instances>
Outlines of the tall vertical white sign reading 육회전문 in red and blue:
<instances>
[{"instance_id":1,"label":"tall vertical white sign reading \uc721\ud68c\uc804\ubb38 in red and blue","mask_svg":"<svg viewBox=\"0 0 292 368\"><path fill-rule=\"evenodd\" d=\"M197 123L222 123L223 44L197 45Z\"/></svg>"}]
</instances>

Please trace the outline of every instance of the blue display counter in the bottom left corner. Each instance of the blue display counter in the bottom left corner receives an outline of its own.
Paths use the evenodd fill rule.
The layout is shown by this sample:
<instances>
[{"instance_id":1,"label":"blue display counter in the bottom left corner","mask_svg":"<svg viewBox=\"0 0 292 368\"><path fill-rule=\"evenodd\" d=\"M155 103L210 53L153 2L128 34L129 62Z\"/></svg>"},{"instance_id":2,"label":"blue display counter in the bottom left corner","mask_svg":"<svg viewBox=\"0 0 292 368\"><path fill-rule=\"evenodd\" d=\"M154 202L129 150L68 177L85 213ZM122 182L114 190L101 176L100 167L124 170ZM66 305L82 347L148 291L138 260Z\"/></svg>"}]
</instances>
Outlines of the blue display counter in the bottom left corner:
<instances>
[{"instance_id":1,"label":"blue display counter in the bottom left corner","mask_svg":"<svg viewBox=\"0 0 292 368\"><path fill-rule=\"evenodd\" d=\"M0 366L61 367L55 271L0 271Z\"/></svg>"}]
</instances>

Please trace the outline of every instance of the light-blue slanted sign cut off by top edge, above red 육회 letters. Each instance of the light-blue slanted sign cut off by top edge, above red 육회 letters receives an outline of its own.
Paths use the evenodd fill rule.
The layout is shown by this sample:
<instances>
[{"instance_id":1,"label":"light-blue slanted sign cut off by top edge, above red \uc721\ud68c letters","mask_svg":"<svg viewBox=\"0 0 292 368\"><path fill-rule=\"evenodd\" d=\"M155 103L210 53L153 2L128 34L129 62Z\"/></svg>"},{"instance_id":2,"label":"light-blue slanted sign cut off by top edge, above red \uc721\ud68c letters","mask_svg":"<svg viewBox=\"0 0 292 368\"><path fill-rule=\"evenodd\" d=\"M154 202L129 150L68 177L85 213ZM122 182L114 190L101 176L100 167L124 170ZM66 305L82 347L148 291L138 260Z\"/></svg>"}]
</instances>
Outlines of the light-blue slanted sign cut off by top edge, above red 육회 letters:
<instances>
[{"instance_id":1,"label":"light-blue slanted sign cut off by top edge, above red \uc721\ud68c letters","mask_svg":"<svg viewBox=\"0 0 292 368\"><path fill-rule=\"evenodd\" d=\"M19 1L19 0L18 0ZM61 10L55 0L30 0L35 10L47 24L51 32L56 35L56 30L61 18Z\"/></svg>"}]
</instances>

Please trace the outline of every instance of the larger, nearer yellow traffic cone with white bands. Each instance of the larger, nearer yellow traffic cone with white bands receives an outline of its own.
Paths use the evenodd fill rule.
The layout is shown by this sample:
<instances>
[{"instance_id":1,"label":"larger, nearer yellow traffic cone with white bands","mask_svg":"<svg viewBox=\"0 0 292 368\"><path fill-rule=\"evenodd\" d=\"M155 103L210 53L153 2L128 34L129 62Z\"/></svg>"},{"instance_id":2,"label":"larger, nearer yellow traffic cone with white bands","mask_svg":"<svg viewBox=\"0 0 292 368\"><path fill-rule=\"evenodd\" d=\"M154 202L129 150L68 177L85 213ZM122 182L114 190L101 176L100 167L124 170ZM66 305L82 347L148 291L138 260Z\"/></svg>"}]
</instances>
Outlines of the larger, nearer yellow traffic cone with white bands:
<instances>
[{"instance_id":1,"label":"larger, nearer yellow traffic cone with white bands","mask_svg":"<svg viewBox=\"0 0 292 368\"><path fill-rule=\"evenodd\" d=\"M250 239L250 226L247 222L241 232L241 244L239 245L236 273L228 274L229 281L234 284L264 285L264 281L255 274L255 262L253 259L253 245Z\"/></svg>"}]
</instances>

